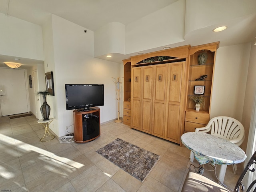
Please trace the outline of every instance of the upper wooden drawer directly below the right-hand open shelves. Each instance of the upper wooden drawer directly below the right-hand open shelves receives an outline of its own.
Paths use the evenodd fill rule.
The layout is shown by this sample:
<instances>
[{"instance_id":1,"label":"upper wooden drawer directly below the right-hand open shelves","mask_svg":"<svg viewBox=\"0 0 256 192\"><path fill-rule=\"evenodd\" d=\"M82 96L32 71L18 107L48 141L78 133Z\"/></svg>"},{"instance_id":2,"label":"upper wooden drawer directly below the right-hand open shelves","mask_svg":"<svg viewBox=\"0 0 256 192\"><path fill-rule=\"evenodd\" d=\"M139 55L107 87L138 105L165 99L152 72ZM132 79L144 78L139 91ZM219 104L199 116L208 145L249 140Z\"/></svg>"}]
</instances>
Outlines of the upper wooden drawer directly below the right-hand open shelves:
<instances>
[{"instance_id":1,"label":"upper wooden drawer directly below the right-hand open shelves","mask_svg":"<svg viewBox=\"0 0 256 192\"><path fill-rule=\"evenodd\" d=\"M210 114L208 113L186 111L185 121L199 124L208 124L209 120Z\"/></svg>"}]
</instances>

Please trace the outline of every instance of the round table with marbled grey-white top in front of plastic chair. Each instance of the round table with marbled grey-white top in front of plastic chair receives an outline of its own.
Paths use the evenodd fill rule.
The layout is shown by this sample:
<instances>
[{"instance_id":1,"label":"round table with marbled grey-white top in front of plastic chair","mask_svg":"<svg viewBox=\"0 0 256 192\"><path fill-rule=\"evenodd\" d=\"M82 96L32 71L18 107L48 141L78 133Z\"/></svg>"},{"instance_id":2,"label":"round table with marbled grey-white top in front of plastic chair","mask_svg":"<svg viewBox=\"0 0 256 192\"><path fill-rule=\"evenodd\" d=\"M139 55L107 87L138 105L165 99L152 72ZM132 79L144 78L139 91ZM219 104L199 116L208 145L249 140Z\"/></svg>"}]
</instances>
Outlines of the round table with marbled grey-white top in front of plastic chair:
<instances>
[{"instance_id":1,"label":"round table with marbled grey-white top in front of plastic chair","mask_svg":"<svg viewBox=\"0 0 256 192\"><path fill-rule=\"evenodd\" d=\"M221 165L218 179L224 182L227 165L238 164L246 159L245 152L236 144L207 133L188 132L181 136L184 146L190 149L200 165L208 162Z\"/></svg>"}]
</instances>

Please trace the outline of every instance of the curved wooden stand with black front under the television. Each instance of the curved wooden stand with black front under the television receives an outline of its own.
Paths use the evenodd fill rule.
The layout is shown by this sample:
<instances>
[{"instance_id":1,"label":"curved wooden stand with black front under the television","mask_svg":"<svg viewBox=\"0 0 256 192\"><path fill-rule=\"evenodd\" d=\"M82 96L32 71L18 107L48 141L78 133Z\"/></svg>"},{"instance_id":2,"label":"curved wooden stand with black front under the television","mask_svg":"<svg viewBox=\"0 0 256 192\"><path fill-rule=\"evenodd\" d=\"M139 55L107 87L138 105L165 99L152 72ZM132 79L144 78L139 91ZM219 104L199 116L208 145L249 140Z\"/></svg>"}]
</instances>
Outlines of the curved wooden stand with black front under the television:
<instances>
[{"instance_id":1,"label":"curved wooden stand with black front under the television","mask_svg":"<svg viewBox=\"0 0 256 192\"><path fill-rule=\"evenodd\" d=\"M77 143L89 142L100 136L100 108L74 110L74 139Z\"/></svg>"}]
</instances>

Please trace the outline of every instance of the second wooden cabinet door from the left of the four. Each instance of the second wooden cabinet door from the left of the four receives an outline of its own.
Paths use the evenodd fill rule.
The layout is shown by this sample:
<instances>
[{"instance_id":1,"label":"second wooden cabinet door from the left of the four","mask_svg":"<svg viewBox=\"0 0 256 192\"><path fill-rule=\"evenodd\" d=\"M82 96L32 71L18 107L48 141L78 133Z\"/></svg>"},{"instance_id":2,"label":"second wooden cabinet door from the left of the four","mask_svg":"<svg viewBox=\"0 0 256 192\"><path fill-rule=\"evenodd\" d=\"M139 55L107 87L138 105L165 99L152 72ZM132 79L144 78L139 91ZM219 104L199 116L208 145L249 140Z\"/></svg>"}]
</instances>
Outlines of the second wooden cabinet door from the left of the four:
<instances>
[{"instance_id":1,"label":"second wooden cabinet door from the left of the four","mask_svg":"<svg viewBox=\"0 0 256 192\"><path fill-rule=\"evenodd\" d=\"M154 66L143 66L142 85L142 131L151 133L152 127L152 91Z\"/></svg>"}]
</instances>

